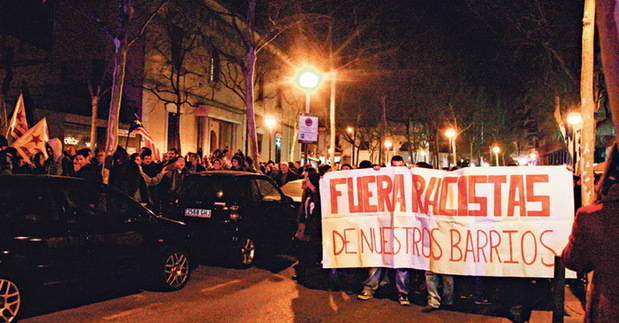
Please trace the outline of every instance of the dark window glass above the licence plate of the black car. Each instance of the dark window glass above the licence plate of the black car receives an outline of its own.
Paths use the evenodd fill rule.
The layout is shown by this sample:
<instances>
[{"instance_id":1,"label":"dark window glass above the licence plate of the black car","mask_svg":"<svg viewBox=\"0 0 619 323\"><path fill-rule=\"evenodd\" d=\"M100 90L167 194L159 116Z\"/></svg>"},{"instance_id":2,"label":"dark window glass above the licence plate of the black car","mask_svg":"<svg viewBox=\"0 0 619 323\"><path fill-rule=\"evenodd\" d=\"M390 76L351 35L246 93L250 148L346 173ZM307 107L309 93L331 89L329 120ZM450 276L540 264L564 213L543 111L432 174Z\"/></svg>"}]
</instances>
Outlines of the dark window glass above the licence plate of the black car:
<instances>
[{"instance_id":1,"label":"dark window glass above the licence plate of the black car","mask_svg":"<svg viewBox=\"0 0 619 323\"><path fill-rule=\"evenodd\" d=\"M235 202L242 195L238 183L232 177L190 176L183 183L180 199L183 202Z\"/></svg>"}]
</instances>

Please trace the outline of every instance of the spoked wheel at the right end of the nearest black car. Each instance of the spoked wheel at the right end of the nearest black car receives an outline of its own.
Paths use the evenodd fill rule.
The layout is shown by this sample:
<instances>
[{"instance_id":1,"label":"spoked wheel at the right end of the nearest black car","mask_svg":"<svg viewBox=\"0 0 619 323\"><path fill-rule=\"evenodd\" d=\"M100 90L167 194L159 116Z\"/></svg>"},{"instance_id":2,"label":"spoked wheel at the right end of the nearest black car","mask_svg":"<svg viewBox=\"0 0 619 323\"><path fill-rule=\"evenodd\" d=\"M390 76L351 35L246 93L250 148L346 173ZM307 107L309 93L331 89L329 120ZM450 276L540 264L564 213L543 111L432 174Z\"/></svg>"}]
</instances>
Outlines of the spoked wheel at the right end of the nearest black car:
<instances>
[{"instance_id":1,"label":"spoked wheel at the right end of the nearest black car","mask_svg":"<svg viewBox=\"0 0 619 323\"><path fill-rule=\"evenodd\" d=\"M191 275L189 256L185 251L170 249L163 252L155 273L156 285L163 290L179 290Z\"/></svg>"}]
</instances>

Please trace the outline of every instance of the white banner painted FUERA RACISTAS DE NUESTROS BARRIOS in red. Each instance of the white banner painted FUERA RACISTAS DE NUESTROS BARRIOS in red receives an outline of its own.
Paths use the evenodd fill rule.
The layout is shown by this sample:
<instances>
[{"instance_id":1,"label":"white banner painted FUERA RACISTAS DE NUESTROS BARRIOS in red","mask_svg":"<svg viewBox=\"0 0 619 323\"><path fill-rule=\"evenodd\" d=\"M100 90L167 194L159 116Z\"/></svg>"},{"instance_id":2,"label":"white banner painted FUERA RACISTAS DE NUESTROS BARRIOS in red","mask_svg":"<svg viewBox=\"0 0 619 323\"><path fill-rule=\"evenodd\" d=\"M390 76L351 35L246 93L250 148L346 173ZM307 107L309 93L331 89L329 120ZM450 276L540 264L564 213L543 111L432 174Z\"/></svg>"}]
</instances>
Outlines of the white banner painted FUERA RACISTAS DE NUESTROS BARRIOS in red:
<instances>
[{"instance_id":1,"label":"white banner painted FUERA RACISTAS DE NUESTROS BARRIOS in red","mask_svg":"<svg viewBox=\"0 0 619 323\"><path fill-rule=\"evenodd\" d=\"M553 277L573 194L562 166L330 172L320 182L323 266Z\"/></svg>"}]
</instances>

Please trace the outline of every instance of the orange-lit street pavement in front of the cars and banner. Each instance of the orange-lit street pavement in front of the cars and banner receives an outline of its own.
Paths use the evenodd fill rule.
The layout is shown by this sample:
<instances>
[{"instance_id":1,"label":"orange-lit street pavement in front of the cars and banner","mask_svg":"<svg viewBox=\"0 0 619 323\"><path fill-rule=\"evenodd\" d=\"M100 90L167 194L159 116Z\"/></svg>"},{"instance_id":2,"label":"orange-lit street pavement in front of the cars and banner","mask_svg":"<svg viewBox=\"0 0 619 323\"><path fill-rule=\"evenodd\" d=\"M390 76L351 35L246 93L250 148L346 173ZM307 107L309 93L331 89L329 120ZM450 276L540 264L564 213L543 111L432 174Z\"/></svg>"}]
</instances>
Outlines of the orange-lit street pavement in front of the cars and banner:
<instances>
[{"instance_id":1,"label":"orange-lit street pavement in front of the cars and banner","mask_svg":"<svg viewBox=\"0 0 619 323\"><path fill-rule=\"evenodd\" d=\"M126 292L25 318L63 322L510 322L459 311L422 313L389 298L359 301L344 292L308 289L292 279L292 259L270 268L201 265L184 289L171 293Z\"/></svg>"}]
</instances>

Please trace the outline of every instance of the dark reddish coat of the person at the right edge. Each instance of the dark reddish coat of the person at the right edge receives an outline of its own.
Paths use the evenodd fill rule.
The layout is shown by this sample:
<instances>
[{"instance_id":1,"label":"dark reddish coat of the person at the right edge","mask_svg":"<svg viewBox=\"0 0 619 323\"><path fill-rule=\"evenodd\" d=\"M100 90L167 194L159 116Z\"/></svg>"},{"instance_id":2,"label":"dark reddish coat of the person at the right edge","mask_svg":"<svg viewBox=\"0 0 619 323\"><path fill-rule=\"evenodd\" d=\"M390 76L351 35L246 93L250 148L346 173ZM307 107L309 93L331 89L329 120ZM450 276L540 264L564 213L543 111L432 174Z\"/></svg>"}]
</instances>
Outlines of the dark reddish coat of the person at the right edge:
<instances>
[{"instance_id":1,"label":"dark reddish coat of the person at the right edge","mask_svg":"<svg viewBox=\"0 0 619 323\"><path fill-rule=\"evenodd\" d=\"M572 234L563 250L567 268L594 271L587 295L585 322L619 320L619 184L611 186L601 202L576 213Z\"/></svg>"}]
</instances>

